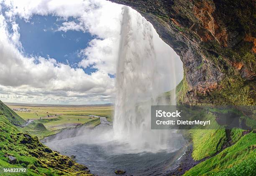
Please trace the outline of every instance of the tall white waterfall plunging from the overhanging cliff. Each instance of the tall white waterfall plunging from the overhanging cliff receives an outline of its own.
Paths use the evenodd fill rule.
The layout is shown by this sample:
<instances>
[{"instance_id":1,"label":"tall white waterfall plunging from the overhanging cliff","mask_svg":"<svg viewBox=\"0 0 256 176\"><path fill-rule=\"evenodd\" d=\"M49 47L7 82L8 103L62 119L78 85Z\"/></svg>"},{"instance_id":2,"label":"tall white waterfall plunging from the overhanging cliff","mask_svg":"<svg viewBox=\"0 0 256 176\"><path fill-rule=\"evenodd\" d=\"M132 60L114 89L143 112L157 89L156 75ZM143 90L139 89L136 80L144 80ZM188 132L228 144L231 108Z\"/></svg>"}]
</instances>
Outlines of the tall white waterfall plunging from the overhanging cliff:
<instances>
[{"instance_id":1,"label":"tall white waterfall plunging from the overhanging cliff","mask_svg":"<svg viewBox=\"0 0 256 176\"><path fill-rule=\"evenodd\" d=\"M167 103L160 98L164 86L160 81L154 27L131 7L124 6L122 15L113 138L139 152L167 149L173 131L151 130L151 105ZM168 63L166 67L175 70L174 64ZM174 78L169 84L174 85L175 72L172 73Z\"/></svg>"}]
</instances>

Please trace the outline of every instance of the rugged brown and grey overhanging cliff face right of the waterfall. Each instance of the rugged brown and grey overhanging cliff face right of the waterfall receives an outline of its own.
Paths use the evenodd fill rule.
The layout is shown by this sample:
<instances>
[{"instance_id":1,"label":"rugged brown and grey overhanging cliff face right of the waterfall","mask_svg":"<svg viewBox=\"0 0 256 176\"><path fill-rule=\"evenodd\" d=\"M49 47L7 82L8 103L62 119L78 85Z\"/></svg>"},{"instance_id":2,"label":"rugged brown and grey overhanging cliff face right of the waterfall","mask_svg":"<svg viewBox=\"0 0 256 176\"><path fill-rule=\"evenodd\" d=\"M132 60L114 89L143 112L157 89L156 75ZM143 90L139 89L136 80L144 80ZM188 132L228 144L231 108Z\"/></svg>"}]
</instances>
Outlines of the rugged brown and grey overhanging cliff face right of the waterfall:
<instances>
[{"instance_id":1,"label":"rugged brown and grey overhanging cliff face right of the waterfall","mask_svg":"<svg viewBox=\"0 0 256 176\"><path fill-rule=\"evenodd\" d=\"M180 102L256 104L254 0L110 1L140 12L180 56Z\"/></svg>"}]
</instances>

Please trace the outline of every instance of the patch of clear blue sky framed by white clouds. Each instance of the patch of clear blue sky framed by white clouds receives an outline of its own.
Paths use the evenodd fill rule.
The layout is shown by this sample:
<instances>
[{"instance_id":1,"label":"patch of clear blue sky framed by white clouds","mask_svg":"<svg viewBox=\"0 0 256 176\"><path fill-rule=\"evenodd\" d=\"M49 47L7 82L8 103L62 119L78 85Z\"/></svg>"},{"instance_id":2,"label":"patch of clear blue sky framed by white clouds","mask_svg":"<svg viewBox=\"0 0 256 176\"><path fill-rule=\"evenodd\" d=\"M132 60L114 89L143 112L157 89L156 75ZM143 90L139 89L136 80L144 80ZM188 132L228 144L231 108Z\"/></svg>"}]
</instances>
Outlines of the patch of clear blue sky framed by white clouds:
<instances>
[{"instance_id":1,"label":"patch of clear blue sky framed by white clouds","mask_svg":"<svg viewBox=\"0 0 256 176\"><path fill-rule=\"evenodd\" d=\"M58 31L58 27L65 21L52 15L33 15L29 21L17 18L20 42L26 55L50 57L77 67L76 64L82 59L79 57L80 50L86 48L95 36L76 30ZM75 19L69 18L67 22L69 21ZM92 67L90 65L84 71L87 74L95 72L97 69Z\"/></svg>"}]
</instances>

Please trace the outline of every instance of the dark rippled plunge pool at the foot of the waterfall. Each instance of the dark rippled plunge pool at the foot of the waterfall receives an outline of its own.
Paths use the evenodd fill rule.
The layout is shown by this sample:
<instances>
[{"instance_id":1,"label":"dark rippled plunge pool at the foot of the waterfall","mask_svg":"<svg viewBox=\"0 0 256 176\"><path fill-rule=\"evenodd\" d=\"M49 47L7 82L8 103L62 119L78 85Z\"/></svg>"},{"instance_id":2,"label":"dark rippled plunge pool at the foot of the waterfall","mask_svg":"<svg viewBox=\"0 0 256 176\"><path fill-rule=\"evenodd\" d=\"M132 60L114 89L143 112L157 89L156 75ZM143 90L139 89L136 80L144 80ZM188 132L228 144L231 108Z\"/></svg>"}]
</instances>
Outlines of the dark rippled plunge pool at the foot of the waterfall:
<instances>
[{"instance_id":1,"label":"dark rippled plunge pool at the foot of the waterfall","mask_svg":"<svg viewBox=\"0 0 256 176\"><path fill-rule=\"evenodd\" d=\"M101 119L101 124L93 130L104 132L110 128L108 121ZM90 130L93 131L92 129ZM88 133L88 136L90 136L91 134L89 133L91 131L83 131L83 133ZM175 152L160 151L158 153L123 154L119 149L125 146L115 141L101 143L95 142L97 141L96 137L89 138L86 141L84 135L67 139L63 139L63 136L63 134L59 134L59 138L51 139L45 144L54 150L60 151L61 154L76 156L78 163L84 164L90 169L91 173L99 176L116 176L115 170L124 170L126 171L124 175L128 176L162 175L177 166L179 162L177 160L185 150L183 147ZM95 134L91 136L95 136ZM88 143L88 141L92 142ZM175 142L178 146L184 146L183 140Z\"/></svg>"}]
</instances>

